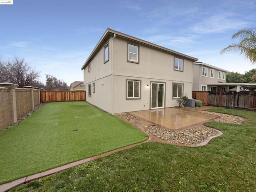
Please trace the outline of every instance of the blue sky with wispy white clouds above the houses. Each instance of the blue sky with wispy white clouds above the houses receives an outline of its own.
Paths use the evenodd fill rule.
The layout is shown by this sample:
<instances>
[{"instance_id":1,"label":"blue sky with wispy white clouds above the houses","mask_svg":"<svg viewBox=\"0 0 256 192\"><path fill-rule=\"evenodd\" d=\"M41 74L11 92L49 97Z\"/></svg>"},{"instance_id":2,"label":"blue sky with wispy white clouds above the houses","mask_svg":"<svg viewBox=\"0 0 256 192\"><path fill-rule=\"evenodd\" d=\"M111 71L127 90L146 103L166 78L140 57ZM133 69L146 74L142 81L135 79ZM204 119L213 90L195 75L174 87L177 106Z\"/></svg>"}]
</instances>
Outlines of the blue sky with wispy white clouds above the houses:
<instances>
[{"instance_id":1,"label":"blue sky with wispy white clouds above the houses","mask_svg":"<svg viewBox=\"0 0 256 192\"><path fill-rule=\"evenodd\" d=\"M244 74L256 66L220 55L232 34L255 27L255 0L14 0L0 5L0 54L25 58L70 84L107 28Z\"/></svg>"}]
</instances>

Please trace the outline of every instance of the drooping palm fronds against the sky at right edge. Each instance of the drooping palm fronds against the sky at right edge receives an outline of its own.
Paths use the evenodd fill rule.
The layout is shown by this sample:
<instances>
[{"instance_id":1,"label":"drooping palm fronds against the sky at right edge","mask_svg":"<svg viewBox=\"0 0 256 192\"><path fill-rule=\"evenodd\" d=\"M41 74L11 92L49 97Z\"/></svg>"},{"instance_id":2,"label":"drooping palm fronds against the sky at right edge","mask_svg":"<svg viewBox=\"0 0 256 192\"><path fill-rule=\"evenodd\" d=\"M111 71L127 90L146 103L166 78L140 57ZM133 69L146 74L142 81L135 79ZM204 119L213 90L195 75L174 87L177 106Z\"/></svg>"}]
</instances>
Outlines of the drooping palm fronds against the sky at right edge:
<instances>
[{"instance_id":1,"label":"drooping palm fronds against the sky at right edge","mask_svg":"<svg viewBox=\"0 0 256 192\"><path fill-rule=\"evenodd\" d=\"M239 38L240 42L233 42L221 50L221 54L231 51L244 55L254 65L256 64L256 27L244 28L232 36L232 39Z\"/></svg>"}]
</instances>

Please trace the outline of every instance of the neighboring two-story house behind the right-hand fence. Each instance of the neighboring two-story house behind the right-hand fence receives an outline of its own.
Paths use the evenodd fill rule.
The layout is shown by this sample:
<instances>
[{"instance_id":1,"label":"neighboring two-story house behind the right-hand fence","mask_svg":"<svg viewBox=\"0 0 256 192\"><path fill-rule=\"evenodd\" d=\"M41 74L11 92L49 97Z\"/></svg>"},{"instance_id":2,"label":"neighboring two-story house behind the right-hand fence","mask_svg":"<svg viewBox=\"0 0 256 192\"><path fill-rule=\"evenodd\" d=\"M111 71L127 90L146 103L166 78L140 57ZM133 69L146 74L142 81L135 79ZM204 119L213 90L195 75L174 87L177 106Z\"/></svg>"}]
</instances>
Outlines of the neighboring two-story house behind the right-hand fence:
<instances>
[{"instance_id":1,"label":"neighboring two-story house behind the right-hand fence","mask_svg":"<svg viewBox=\"0 0 256 192\"><path fill-rule=\"evenodd\" d=\"M228 72L203 62L194 62L193 91L226 91L228 87L221 84L226 83Z\"/></svg>"}]
</instances>

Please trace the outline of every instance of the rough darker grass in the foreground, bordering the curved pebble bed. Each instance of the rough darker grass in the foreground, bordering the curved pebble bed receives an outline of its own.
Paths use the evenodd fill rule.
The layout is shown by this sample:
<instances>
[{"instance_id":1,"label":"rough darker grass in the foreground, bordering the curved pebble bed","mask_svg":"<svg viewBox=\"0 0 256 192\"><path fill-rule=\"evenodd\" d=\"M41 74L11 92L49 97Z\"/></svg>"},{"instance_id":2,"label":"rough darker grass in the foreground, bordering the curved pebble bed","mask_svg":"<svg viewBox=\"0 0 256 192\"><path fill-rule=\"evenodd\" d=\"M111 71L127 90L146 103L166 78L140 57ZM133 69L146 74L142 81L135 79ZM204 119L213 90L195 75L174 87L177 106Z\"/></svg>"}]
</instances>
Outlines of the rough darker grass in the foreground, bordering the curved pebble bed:
<instances>
[{"instance_id":1,"label":"rough darker grass in the foreground, bordering the curved pebble bed","mask_svg":"<svg viewBox=\"0 0 256 192\"><path fill-rule=\"evenodd\" d=\"M11 191L256 191L256 112L210 111L248 120L242 124L208 122L224 134L206 146L148 142Z\"/></svg>"}]
</instances>

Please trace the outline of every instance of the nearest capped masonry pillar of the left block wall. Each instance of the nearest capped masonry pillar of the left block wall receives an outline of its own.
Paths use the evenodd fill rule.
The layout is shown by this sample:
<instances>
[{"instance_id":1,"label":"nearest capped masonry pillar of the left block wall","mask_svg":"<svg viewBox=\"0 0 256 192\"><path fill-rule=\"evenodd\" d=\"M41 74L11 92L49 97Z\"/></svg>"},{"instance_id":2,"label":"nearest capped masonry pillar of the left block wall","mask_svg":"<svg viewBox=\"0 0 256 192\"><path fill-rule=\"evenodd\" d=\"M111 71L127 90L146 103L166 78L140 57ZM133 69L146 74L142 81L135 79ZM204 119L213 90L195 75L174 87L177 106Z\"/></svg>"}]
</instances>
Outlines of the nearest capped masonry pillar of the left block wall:
<instances>
[{"instance_id":1,"label":"nearest capped masonry pillar of the left block wall","mask_svg":"<svg viewBox=\"0 0 256 192\"><path fill-rule=\"evenodd\" d=\"M15 88L18 88L19 85L6 82L6 83L0 83L0 86L9 88L11 123L16 123L17 122L17 106L16 106Z\"/></svg>"}]
</instances>

